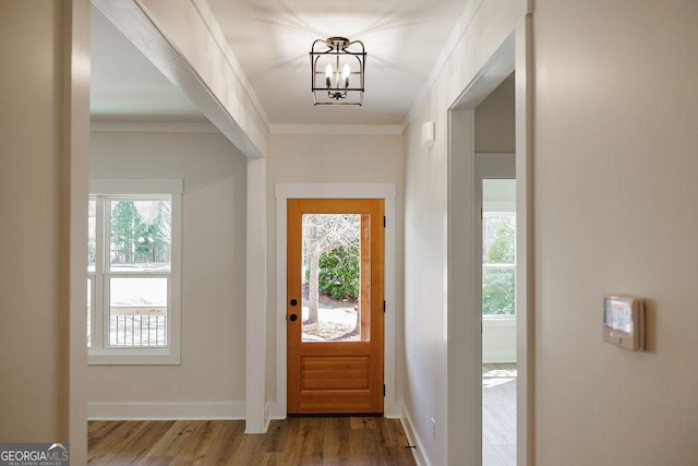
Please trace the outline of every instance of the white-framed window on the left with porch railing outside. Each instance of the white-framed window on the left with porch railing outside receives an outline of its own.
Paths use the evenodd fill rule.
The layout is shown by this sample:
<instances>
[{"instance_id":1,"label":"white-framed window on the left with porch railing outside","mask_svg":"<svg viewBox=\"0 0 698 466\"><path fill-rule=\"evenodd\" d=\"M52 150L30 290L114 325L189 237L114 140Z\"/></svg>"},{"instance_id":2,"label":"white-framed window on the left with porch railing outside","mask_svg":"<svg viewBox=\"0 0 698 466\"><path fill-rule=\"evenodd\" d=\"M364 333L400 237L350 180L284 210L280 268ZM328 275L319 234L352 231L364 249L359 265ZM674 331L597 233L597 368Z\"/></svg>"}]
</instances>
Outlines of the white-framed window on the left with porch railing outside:
<instances>
[{"instance_id":1,"label":"white-framed window on the left with porch railing outside","mask_svg":"<svg viewBox=\"0 0 698 466\"><path fill-rule=\"evenodd\" d=\"M89 363L177 365L181 180L92 180Z\"/></svg>"}]
</instances>

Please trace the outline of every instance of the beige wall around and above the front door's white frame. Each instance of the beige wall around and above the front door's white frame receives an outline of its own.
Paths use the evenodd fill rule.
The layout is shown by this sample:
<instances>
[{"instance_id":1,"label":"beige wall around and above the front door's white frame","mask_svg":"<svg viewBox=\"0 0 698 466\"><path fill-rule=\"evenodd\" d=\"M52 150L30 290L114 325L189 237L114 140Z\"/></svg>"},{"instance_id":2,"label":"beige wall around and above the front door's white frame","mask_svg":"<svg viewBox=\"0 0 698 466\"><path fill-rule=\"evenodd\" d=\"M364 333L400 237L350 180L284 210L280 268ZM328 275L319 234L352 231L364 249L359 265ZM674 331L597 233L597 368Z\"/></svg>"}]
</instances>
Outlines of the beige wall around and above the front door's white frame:
<instances>
[{"instance_id":1,"label":"beige wall around and above the front door's white frame","mask_svg":"<svg viewBox=\"0 0 698 466\"><path fill-rule=\"evenodd\" d=\"M392 127L388 127L392 128ZM387 131L394 132L394 131ZM269 346L274 359L267 373L269 398L276 390L276 183L396 183L396 270L402 267L402 136L399 134L281 134L269 138L267 277ZM402 340L402 277L396 277L397 371L400 371ZM399 380L399 379L398 379ZM286 396L286 394L284 394ZM398 394L399 396L399 394Z\"/></svg>"}]
</instances>

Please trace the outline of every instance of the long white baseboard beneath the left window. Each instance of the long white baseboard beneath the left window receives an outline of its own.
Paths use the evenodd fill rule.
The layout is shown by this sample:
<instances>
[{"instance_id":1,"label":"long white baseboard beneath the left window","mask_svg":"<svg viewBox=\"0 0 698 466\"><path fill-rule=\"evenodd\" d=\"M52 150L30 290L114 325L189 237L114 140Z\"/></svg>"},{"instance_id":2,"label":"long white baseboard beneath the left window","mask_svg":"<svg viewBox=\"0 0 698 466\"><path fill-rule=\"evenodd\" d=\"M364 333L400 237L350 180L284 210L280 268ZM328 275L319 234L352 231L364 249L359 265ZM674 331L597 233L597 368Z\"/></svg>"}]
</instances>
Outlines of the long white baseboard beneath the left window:
<instances>
[{"instance_id":1,"label":"long white baseboard beneath the left window","mask_svg":"<svg viewBox=\"0 0 698 466\"><path fill-rule=\"evenodd\" d=\"M89 420L244 420L244 403L88 403Z\"/></svg>"}]
</instances>

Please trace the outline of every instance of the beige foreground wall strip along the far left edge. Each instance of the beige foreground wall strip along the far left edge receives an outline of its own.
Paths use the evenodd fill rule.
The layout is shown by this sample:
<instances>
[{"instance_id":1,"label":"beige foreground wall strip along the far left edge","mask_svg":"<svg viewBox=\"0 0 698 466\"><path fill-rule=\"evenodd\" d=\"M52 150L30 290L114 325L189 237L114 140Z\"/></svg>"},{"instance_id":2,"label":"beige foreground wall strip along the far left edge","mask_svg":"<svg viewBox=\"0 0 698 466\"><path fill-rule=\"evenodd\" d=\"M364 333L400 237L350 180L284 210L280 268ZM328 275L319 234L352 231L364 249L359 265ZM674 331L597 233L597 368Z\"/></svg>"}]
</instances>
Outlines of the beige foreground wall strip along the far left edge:
<instances>
[{"instance_id":1,"label":"beige foreground wall strip along the far left edge","mask_svg":"<svg viewBox=\"0 0 698 466\"><path fill-rule=\"evenodd\" d=\"M0 442L68 441L61 3L0 3Z\"/></svg>"}]
</instances>

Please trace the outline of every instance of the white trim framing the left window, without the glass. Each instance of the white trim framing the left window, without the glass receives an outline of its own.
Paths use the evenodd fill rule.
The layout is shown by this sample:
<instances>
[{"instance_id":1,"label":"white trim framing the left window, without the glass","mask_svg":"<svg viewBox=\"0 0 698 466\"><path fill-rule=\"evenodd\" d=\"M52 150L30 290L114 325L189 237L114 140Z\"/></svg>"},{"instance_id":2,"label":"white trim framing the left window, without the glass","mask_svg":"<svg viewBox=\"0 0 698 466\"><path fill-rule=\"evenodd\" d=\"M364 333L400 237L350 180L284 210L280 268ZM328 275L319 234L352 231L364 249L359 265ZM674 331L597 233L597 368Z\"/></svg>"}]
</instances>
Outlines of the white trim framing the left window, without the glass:
<instances>
[{"instance_id":1,"label":"white trim framing the left window, without the glass","mask_svg":"<svg viewBox=\"0 0 698 466\"><path fill-rule=\"evenodd\" d=\"M181 179L93 179L89 180L91 195L134 195L134 194L169 194L172 202L172 238L169 286L168 344L157 348L107 348L103 342L101 326L104 322L103 297L93 296L92 348L87 350L88 365L180 365L181 363L181 252L182 252L182 194L184 183ZM98 206L98 208L100 208ZM97 250L101 244L97 239ZM94 284L95 282L93 282ZM99 308L100 312L97 312Z\"/></svg>"}]
</instances>

